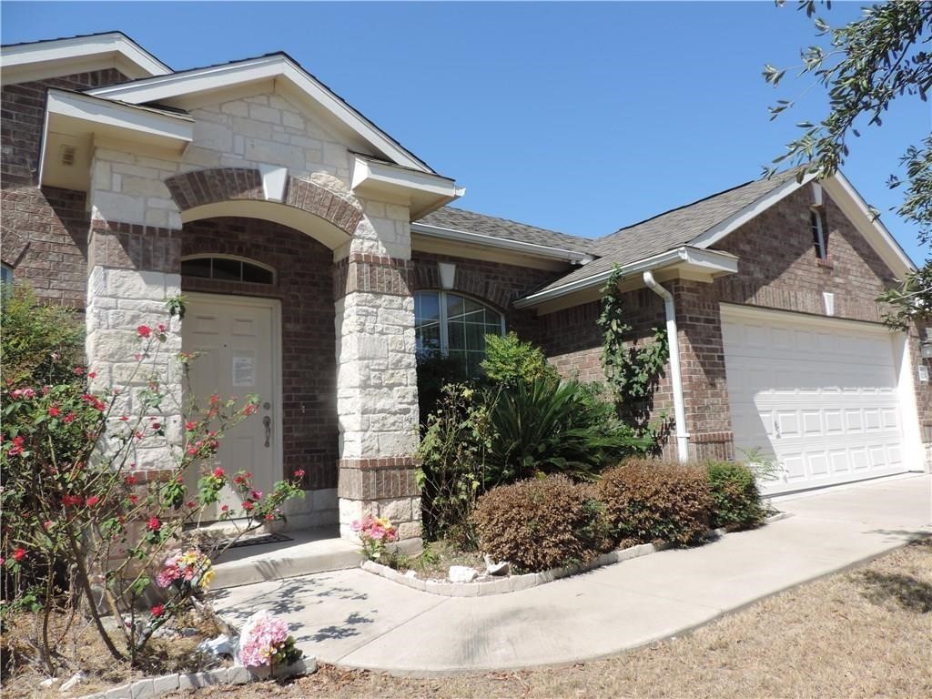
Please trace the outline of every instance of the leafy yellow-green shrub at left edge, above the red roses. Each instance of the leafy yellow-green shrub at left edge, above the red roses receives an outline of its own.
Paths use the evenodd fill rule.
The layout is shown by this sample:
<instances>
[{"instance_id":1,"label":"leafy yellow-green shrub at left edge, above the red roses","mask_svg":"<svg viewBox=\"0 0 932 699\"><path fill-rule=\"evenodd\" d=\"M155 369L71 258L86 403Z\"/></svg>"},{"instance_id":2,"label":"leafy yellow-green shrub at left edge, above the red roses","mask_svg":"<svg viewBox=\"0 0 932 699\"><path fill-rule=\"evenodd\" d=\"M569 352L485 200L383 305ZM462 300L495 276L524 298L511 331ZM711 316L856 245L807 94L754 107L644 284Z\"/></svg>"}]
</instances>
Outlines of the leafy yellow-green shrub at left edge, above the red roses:
<instances>
[{"instance_id":1,"label":"leafy yellow-green shrub at left edge, above the red roses","mask_svg":"<svg viewBox=\"0 0 932 699\"><path fill-rule=\"evenodd\" d=\"M7 387L80 383L84 323L75 311L35 298L24 284L4 289L0 310L0 369Z\"/></svg>"}]
</instances>

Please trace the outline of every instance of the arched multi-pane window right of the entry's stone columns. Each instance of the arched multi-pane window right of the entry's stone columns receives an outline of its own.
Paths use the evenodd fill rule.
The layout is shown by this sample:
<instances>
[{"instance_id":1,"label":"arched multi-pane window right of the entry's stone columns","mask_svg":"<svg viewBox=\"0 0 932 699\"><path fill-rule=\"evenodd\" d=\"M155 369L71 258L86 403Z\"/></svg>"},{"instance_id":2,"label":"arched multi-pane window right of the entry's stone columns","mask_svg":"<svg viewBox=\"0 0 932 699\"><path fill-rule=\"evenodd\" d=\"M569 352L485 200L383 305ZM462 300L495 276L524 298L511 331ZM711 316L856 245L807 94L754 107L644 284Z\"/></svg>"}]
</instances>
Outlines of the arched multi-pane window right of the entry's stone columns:
<instances>
[{"instance_id":1,"label":"arched multi-pane window right of the entry's stone columns","mask_svg":"<svg viewBox=\"0 0 932 699\"><path fill-rule=\"evenodd\" d=\"M470 377L479 374L479 363L486 357L486 336L503 335L505 330L497 310L451 292L417 292L414 314L418 354L440 352L459 358Z\"/></svg>"}]
</instances>

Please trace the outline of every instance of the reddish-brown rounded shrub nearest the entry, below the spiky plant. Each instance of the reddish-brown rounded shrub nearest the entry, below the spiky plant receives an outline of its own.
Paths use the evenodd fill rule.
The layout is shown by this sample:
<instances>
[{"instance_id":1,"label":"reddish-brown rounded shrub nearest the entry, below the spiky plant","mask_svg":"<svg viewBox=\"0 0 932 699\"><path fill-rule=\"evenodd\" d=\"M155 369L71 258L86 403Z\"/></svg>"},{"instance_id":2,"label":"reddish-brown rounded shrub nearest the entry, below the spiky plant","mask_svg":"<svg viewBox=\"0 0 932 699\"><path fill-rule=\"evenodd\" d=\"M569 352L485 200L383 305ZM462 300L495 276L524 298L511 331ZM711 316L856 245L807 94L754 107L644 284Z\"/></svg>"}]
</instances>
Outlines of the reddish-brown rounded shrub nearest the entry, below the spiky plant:
<instances>
[{"instance_id":1,"label":"reddish-brown rounded shrub nearest the entry, below the spiky plant","mask_svg":"<svg viewBox=\"0 0 932 699\"><path fill-rule=\"evenodd\" d=\"M607 523L588 487L562 475L494 487L473 519L483 552L518 571L582 563L609 545Z\"/></svg>"}]
</instances>

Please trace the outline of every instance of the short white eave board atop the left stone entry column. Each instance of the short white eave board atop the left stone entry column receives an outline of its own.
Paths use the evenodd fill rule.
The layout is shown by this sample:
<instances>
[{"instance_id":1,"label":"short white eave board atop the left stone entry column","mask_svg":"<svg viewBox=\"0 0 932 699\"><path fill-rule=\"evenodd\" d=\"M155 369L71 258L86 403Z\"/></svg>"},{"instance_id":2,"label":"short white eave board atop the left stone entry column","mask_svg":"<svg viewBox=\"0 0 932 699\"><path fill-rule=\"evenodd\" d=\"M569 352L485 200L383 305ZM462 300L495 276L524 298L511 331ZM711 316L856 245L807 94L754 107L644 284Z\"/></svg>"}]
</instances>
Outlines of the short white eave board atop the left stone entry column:
<instances>
[{"instance_id":1,"label":"short white eave board atop the left stone entry column","mask_svg":"<svg viewBox=\"0 0 932 699\"><path fill-rule=\"evenodd\" d=\"M75 94L58 89L48 90L48 115L59 115L89 122L91 125L126 129L158 139L178 142L180 147L191 143L194 119L185 115L168 115L134 104L114 103L99 97Z\"/></svg>"}]
</instances>

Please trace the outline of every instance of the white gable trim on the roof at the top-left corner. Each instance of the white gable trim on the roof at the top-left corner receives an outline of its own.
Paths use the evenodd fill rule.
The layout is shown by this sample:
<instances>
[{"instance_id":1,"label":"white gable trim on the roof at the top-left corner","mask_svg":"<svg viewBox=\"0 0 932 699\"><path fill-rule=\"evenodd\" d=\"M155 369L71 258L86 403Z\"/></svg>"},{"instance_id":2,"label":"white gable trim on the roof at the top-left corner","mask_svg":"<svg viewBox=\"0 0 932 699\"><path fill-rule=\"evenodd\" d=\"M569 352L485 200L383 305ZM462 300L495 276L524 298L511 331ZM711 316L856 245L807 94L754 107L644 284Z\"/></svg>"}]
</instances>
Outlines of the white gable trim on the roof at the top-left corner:
<instances>
[{"instance_id":1,"label":"white gable trim on the roof at the top-left corner","mask_svg":"<svg viewBox=\"0 0 932 699\"><path fill-rule=\"evenodd\" d=\"M122 67L129 69L134 74L130 77L171 73L169 66L125 34L117 32L5 47L0 52L0 63L7 74L4 77L15 80L18 74L41 71L43 66L84 62L107 55L115 58L115 67L121 67L122 63Z\"/></svg>"}]
</instances>

